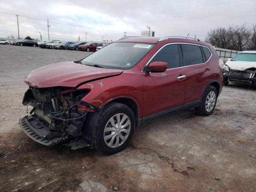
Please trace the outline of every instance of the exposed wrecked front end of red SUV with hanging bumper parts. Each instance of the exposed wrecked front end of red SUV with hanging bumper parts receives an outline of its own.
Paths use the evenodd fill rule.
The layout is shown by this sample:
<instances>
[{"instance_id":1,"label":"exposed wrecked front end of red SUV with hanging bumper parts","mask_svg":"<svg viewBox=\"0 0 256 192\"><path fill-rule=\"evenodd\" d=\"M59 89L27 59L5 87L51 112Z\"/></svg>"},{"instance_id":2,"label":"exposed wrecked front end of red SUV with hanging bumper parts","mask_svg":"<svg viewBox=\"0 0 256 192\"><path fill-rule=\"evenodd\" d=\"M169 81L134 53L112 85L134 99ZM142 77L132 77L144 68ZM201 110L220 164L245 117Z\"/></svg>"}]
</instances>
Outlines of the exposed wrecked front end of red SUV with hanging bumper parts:
<instances>
[{"instance_id":1,"label":"exposed wrecked front end of red SUV with hanging bumper parts","mask_svg":"<svg viewBox=\"0 0 256 192\"><path fill-rule=\"evenodd\" d=\"M89 91L61 87L29 88L22 104L33 108L30 116L20 119L22 130L33 140L47 146L64 141L72 149L90 146L90 138L82 128L90 111L86 109L90 109L91 105L81 101Z\"/></svg>"}]
</instances>

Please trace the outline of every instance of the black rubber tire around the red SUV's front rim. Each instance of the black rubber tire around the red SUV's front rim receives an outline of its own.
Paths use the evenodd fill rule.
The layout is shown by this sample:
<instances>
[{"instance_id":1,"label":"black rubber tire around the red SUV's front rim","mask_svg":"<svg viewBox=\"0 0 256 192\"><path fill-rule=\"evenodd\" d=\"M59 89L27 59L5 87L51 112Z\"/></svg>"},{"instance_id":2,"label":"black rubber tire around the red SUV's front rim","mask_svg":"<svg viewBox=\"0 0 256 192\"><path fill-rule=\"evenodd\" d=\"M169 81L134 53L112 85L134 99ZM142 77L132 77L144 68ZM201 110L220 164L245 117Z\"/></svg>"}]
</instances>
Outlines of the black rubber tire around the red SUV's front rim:
<instances>
[{"instance_id":1,"label":"black rubber tire around the red SUV's front rim","mask_svg":"<svg viewBox=\"0 0 256 192\"><path fill-rule=\"evenodd\" d=\"M130 133L126 141L121 146L116 148L110 148L104 142L104 129L108 120L110 120L110 118L119 113L126 114L129 117L131 122ZM123 150L132 139L132 135L134 134L134 127L135 117L132 110L128 106L117 102L111 102L110 104L106 105L102 110L90 113L86 121L86 128L89 128L94 132L95 150L105 155L115 154Z\"/></svg>"}]
</instances>

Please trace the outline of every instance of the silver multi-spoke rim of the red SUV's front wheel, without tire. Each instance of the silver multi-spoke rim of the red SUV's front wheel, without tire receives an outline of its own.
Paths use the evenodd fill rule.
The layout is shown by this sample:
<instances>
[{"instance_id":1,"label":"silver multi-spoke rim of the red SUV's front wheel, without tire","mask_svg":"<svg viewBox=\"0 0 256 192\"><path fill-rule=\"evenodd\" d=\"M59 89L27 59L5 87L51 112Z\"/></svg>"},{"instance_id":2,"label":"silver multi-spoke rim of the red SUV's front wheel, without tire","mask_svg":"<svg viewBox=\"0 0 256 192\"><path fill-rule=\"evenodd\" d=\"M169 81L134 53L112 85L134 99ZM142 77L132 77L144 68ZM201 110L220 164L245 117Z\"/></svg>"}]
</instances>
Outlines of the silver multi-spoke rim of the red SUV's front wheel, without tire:
<instances>
[{"instance_id":1,"label":"silver multi-spoke rim of the red SUV's front wheel, without tire","mask_svg":"<svg viewBox=\"0 0 256 192\"><path fill-rule=\"evenodd\" d=\"M131 130L130 118L123 113L118 113L108 120L103 138L105 144L110 148L117 148L124 144Z\"/></svg>"}]
</instances>

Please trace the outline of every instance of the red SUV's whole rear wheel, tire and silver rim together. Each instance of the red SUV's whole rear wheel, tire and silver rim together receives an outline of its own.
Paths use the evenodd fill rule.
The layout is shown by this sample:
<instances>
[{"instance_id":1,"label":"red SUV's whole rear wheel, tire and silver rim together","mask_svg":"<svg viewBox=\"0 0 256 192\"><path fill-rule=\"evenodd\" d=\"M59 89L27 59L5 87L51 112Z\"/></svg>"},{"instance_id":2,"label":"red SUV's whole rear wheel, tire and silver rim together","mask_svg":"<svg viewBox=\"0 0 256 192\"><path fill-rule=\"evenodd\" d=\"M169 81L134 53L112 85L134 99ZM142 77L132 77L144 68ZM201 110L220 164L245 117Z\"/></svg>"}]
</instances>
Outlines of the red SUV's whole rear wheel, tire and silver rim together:
<instances>
[{"instance_id":1,"label":"red SUV's whole rear wheel, tire and silver rim together","mask_svg":"<svg viewBox=\"0 0 256 192\"><path fill-rule=\"evenodd\" d=\"M217 90L214 86L208 86L204 92L201 105L196 109L196 113L201 116L212 114L217 101Z\"/></svg>"}]
</instances>

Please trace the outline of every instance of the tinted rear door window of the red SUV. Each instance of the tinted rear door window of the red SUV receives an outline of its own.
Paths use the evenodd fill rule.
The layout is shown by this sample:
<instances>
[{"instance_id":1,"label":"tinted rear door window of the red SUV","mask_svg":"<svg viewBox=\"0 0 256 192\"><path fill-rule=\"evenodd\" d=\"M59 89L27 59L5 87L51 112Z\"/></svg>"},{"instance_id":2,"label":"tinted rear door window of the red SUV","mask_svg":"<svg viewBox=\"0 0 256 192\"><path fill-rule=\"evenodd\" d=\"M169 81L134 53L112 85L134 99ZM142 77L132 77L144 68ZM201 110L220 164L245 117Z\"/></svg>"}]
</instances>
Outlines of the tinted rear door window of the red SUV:
<instances>
[{"instance_id":1,"label":"tinted rear door window of the red SUV","mask_svg":"<svg viewBox=\"0 0 256 192\"><path fill-rule=\"evenodd\" d=\"M202 51L197 45L182 44L185 66L203 63Z\"/></svg>"}]
</instances>

